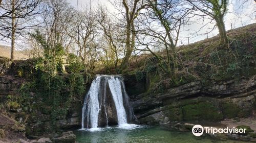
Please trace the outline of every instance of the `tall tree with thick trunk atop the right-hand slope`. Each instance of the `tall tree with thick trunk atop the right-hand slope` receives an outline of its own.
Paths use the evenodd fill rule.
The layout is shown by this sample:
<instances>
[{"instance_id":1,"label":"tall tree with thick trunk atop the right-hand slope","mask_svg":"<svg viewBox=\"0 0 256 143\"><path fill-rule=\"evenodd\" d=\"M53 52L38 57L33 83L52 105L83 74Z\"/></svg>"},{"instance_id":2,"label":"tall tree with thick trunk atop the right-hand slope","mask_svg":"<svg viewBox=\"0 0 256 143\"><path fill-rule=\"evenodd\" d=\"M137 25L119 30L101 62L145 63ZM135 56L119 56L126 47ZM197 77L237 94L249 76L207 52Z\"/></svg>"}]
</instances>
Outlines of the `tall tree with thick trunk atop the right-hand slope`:
<instances>
[{"instance_id":1,"label":"tall tree with thick trunk atop the right-hand slope","mask_svg":"<svg viewBox=\"0 0 256 143\"><path fill-rule=\"evenodd\" d=\"M227 38L224 16L227 13L228 0L186 0L192 9L196 11L201 11L200 13L195 13L199 16L209 16L216 21L216 26L218 27L220 33L220 48L227 49L229 42Z\"/></svg>"}]
</instances>

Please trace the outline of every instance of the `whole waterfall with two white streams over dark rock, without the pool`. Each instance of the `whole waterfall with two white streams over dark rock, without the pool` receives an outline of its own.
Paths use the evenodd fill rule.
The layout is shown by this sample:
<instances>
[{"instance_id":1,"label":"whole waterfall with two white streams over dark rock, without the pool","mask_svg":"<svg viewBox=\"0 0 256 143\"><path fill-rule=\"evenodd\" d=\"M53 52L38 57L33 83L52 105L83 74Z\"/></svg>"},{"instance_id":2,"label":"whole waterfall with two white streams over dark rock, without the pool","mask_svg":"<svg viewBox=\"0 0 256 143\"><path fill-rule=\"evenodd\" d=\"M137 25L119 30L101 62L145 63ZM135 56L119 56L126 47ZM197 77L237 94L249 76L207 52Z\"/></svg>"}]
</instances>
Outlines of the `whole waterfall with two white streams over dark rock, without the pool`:
<instances>
[{"instance_id":1,"label":"whole waterfall with two white streams over dark rock, without the pool","mask_svg":"<svg viewBox=\"0 0 256 143\"><path fill-rule=\"evenodd\" d=\"M127 127L134 119L133 109L120 76L97 75L84 98L82 129L108 125Z\"/></svg>"}]
</instances>

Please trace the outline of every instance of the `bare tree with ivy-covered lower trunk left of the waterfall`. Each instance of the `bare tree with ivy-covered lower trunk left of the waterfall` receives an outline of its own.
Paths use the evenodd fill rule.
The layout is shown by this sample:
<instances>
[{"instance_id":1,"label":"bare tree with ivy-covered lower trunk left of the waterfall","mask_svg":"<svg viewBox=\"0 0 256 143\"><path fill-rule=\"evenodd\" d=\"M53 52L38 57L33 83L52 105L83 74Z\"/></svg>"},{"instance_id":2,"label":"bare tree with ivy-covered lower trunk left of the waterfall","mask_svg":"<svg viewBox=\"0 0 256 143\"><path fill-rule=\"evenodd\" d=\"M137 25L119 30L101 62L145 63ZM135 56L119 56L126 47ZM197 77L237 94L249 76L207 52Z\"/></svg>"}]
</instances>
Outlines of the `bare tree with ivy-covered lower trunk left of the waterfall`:
<instances>
[{"instance_id":1,"label":"bare tree with ivy-covered lower trunk left of the waterfall","mask_svg":"<svg viewBox=\"0 0 256 143\"><path fill-rule=\"evenodd\" d=\"M66 49L71 44L70 37L66 34L71 25L71 19L75 15L73 7L65 0L46 1L46 11L41 15L44 22L35 34L32 34L41 48L46 60L46 71L57 73L57 65L60 64L62 72L66 73L65 55Z\"/></svg>"}]
</instances>

